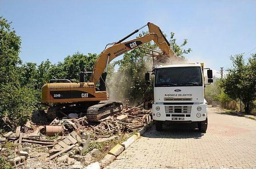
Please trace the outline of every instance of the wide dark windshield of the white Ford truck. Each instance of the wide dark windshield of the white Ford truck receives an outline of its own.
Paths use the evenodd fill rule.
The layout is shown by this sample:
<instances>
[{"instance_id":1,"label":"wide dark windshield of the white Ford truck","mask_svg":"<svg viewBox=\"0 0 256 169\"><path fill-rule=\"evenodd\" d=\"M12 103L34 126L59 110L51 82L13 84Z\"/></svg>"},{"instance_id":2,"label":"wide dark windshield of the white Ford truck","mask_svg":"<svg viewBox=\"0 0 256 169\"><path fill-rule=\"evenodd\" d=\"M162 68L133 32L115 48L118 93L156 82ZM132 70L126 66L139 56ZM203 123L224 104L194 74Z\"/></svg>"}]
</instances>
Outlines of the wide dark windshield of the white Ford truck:
<instances>
[{"instance_id":1,"label":"wide dark windshield of the white Ford truck","mask_svg":"<svg viewBox=\"0 0 256 169\"><path fill-rule=\"evenodd\" d=\"M156 69L155 87L202 86L201 67L170 67Z\"/></svg>"}]
</instances>

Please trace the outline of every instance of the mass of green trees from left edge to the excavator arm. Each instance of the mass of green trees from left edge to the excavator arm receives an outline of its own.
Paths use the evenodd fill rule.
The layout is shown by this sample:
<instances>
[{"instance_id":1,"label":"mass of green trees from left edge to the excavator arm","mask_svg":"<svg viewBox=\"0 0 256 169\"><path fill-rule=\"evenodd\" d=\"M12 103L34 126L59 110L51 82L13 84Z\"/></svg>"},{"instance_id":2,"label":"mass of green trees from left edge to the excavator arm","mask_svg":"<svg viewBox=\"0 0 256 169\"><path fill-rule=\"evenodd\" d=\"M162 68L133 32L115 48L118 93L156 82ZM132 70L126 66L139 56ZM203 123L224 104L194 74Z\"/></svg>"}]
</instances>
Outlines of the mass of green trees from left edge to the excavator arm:
<instances>
[{"instance_id":1,"label":"mass of green trees from left edge to the excavator arm","mask_svg":"<svg viewBox=\"0 0 256 169\"><path fill-rule=\"evenodd\" d=\"M96 54L76 52L63 62L51 64L49 60L22 63L18 57L21 39L11 23L0 17L0 128L14 130L31 118L32 111L42 109L41 87L50 79L79 79L80 71L92 71ZM5 117L5 118L2 118Z\"/></svg>"}]
</instances>

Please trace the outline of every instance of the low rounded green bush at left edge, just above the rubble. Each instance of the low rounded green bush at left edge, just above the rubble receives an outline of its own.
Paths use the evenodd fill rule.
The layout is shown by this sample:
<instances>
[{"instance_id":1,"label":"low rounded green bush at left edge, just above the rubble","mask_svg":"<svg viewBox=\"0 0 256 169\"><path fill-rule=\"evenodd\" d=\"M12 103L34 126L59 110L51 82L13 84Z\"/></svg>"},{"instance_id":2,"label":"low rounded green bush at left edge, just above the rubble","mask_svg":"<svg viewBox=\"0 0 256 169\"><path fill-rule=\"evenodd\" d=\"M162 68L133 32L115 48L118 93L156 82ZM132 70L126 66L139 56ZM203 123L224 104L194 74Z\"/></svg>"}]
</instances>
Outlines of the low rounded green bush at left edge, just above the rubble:
<instances>
[{"instance_id":1,"label":"low rounded green bush at left edge, just above the rubble","mask_svg":"<svg viewBox=\"0 0 256 169\"><path fill-rule=\"evenodd\" d=\"M0 85L0 128L15 130L31 118L34 104L35 90L28 87L16 87L12 85Z\"/></svg>"}]
</instances>

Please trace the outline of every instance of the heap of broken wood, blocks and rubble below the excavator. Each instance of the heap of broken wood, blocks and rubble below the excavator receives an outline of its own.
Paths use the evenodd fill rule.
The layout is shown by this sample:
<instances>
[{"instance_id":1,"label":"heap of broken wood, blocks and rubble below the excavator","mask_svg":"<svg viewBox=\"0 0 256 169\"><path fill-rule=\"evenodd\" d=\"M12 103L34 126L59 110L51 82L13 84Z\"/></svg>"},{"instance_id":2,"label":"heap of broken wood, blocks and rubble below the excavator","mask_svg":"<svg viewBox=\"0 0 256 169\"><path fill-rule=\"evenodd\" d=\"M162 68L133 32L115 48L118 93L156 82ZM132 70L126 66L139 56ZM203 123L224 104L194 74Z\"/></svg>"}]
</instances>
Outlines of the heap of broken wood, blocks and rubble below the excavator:
<instances>
[{"instance_id":1,"label":"heap of broken wood, blocks and rubble below the excavator","mask_svg":"<svg viewBox=\"0 0 256 169\"><path fill-rule=\"evenodd\" d=\"M126 107L119 114L108 116L99 122L90 122L86 116L55 118L47 126L37 126L28 121L23 127L18 126L15 133L8 132L0 137L0 153L4 156L8 148L3 145L12 142L14 149L5 157L15 167L24 163L35 165L37 162L34 160L38 158L38 161L48 162L49 166L54 165L56 168L83 168L83 165L89 164L100 153L96 148L88 150L91 143L118 139L120 134L140 130L151 121L151 110L140 108ZM40 159L43 154L44 158Z\"/></svg>"}]
</instances>

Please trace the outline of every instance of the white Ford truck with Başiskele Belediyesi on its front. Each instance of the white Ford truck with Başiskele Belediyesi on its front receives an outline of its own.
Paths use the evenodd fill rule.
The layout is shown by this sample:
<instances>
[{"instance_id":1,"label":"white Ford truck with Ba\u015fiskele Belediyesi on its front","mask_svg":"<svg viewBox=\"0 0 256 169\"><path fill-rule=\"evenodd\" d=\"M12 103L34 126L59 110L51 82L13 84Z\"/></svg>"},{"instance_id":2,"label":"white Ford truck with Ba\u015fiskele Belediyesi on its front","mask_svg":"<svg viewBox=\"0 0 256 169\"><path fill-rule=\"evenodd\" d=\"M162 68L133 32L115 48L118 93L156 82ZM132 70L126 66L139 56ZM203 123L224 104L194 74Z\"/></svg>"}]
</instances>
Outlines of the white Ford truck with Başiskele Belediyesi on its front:
<instances>
[{"instance_id":1,"label":"white Ford truck with Ba\u015fiskele Belediyesi on its front","mask_svg":"<svg viewBox=\"0 0 256 169\"><path fill-rule=\"evenodd\" d=\"M213 82L212 70L207 68L208 84ZM192 122L200 132L207 130L207 102L204 99L204 64L158 65L154 75L154 104L152 117L156 130L163 122ZM150 81L150 73L145 75Z\"/></svg>"}]
</instances>

